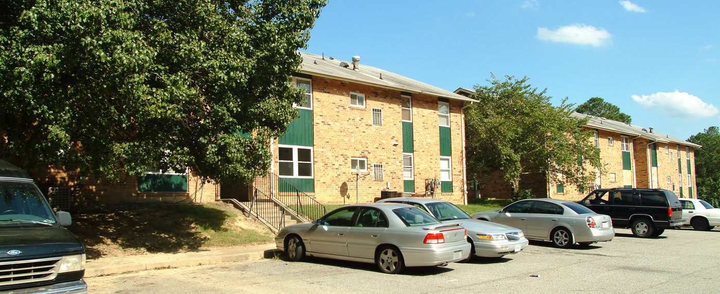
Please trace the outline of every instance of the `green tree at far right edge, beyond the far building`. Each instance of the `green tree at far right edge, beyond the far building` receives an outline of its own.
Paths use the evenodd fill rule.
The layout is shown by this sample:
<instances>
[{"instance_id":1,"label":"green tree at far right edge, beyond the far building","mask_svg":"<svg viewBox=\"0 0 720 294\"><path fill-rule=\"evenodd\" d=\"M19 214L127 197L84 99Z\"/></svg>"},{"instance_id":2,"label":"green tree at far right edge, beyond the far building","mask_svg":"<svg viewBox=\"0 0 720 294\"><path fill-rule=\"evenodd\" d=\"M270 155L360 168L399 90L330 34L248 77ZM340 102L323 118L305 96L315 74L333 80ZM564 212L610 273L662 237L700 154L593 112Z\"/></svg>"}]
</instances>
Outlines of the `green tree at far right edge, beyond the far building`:
<instances>
[{"instance_id":1,"label":"green tree at far right edge, beyond the far building","mask_svg":"<svg viewBox=\"0 0 720 294\"><path fill-rule=\"evenodd\" d=\"M720 207L720 129L709 127L690 136L688 142L701 145L695 150L695 178L698 198Z\"/></svg>"}]
</instances>

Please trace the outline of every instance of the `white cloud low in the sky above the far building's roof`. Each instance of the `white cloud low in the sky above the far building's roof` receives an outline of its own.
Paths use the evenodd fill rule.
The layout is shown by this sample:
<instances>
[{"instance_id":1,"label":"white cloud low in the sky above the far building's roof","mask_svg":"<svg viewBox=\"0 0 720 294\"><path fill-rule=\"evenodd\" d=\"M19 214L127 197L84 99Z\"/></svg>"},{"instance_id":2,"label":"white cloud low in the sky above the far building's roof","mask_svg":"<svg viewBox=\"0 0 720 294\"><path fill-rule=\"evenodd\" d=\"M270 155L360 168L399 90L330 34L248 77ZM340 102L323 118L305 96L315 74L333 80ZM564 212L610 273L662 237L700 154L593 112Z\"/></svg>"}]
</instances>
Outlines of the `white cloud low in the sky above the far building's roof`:
<instances>
[{"instance_id":1,"label":"white cloud low in the sky above the far building's roof","mask_svg":"<svg viewBox=\"0 0 720 294\"><path fill-rule=\"evenodd\" d=\"M657 92L651 95L637 96L632 99L645 109L657 109L662 114L679 118L714 116L720 112L712 104L706 104L697 96L687 92Z\"/></svg>"}]
</instances>

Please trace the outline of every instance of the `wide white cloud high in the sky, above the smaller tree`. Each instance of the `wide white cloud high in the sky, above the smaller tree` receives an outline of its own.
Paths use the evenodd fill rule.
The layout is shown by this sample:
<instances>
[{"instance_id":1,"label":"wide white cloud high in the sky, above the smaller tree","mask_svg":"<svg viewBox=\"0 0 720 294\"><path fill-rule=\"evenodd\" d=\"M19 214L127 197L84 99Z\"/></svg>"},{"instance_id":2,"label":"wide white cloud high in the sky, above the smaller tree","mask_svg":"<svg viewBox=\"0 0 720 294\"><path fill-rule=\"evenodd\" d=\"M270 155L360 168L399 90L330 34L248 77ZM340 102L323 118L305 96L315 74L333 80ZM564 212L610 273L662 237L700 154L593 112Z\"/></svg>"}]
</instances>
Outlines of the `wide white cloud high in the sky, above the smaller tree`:
<instances>
[{"instance_id":1,"label":"wide white cloud high in the sky, above the smaller tree","mask_svg":"<svg viewBox=\"0 0 720 294\"><path fill-rule=\"evenodd\" d=\"M560 27L554 31L546 27L538 27L538 35L535 37L541 41L563 42L600 47L612 44L610 39L613 35L603 28L596 29L593 26L585 24L572 24Z\"/></svg>"}]
</instances>

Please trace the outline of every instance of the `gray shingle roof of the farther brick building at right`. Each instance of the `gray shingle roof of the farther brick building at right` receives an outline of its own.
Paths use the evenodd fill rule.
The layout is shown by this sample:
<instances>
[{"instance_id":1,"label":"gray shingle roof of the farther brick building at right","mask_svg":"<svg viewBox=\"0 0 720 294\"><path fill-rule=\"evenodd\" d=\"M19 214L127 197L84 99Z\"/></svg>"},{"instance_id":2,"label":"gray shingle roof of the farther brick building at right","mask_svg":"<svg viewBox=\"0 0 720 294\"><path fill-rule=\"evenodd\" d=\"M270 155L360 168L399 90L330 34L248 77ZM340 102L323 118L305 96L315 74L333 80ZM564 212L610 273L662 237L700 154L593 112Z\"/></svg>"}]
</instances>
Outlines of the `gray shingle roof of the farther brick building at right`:
<instances>
[{"instance_id":1,"label":"gray shingle roof of the farther brick building at right","mask_svg":"<svg viewBox=\"0 0 720 294\"><path fill-rule=\"evenodd\" d=\"M618 132L620 134L626 134L629 136L639 136L643 137L645 139L649 139L651 141L657 141L662 143L675 143L675 144L683 144L687 146L691 146L694 148L700 148L702 146L687 142L683 139L678 139L675 137L670 137L667 134L662 134L660 132L652 130L652 133L649 129L636 126L634 124L626 124L622 121L613 121L612 119L606 119L603 117L598 116L591 116L588 114L580 114L577 112L573 112L572 116L575 116L579 119L584 119L585 117L588 118L588 123L585 124L585 126L588 126L593 129L603 129L606 131L611 132Z\"/></svg>"}]
</instances>

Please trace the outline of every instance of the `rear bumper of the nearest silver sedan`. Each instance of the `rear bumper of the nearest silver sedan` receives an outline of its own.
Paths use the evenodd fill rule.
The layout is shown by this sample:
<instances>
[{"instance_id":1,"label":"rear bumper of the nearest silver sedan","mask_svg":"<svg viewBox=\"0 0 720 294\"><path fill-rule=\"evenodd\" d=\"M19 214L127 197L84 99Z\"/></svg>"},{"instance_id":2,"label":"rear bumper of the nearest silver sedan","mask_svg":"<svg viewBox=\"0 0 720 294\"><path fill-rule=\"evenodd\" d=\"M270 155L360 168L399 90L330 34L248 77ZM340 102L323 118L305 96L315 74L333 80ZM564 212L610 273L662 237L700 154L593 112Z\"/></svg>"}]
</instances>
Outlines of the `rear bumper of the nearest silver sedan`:
<instances>
[{"instance_id":1,"label":"rear bumper of the nearest silver sedan","mask_svg":"<svg viewBox=\"0 0 720 294\"><path fill-rule=\"evenodd\" d=\"M463 243L452 247L400 247L399 249L406 267L430 267L466 259L470 254L470 244Z\"/></svg>"}]
</instances>

